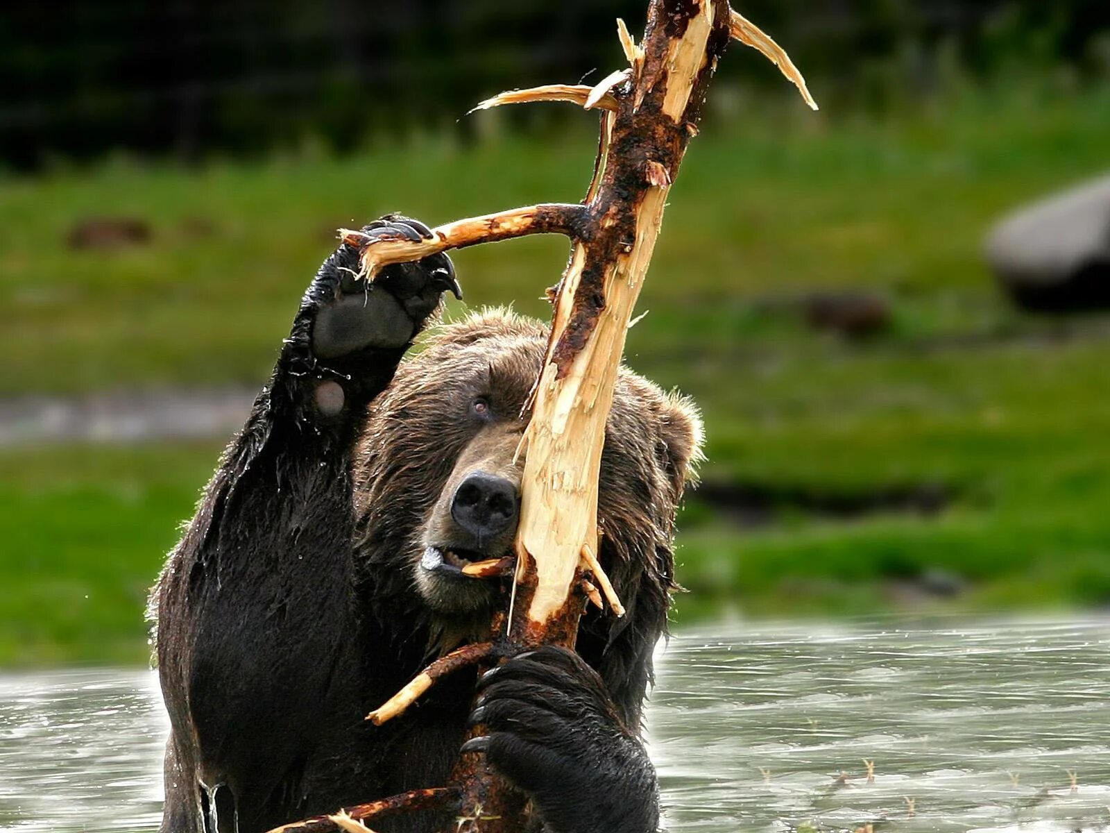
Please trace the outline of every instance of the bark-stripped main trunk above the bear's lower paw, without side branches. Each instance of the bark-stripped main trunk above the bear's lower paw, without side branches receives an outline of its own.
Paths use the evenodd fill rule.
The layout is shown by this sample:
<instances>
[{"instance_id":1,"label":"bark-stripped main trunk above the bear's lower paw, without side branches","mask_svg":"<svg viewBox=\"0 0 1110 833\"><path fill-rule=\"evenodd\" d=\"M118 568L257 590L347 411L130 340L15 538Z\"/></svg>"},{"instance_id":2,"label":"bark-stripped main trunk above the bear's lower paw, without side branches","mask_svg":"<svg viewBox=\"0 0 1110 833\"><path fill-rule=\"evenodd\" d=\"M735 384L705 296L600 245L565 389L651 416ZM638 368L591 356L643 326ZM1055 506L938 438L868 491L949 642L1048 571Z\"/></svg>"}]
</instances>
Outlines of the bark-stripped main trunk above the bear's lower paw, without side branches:
<instances>
[{"instance_id":1,"label":"bark-stripped main trunk above the bear's lower paw, without side branches","mask_svg":"<svg viewBox=\"0 0 1110 833\"><path fill-rule=\"evenodd\" d=\"M575 243L536 387L517 533L517 583L527 588L517 604L531 630L563 615L583 553L596 550L597 478L625 331L689 140L685 124L696 122L728 40L727 4L672 6L652 3L643 68L622 97L589 203L594 233ZM614 154L618 145L636 153Z\"/></svg>"}]
</instances>

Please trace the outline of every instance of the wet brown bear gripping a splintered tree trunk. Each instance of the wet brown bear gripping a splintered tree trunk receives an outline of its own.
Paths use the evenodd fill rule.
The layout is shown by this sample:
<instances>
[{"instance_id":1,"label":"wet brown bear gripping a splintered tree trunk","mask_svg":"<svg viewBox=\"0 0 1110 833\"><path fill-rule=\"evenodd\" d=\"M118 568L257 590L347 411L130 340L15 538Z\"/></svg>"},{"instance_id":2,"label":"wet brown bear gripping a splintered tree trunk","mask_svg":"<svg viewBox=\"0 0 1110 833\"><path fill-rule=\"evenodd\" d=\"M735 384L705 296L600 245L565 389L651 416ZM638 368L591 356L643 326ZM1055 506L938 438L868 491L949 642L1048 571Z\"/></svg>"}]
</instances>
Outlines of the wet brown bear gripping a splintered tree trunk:
<instances>
[{"instance_id":1,"label":"wet brown bear gripping a splintered tree trunk","mask_svg":"<svg viewBox=\"0 0 1110 833\"><path fill-rule=\"evenodd\" d=\"M390 215L367 235L428 233ZM655 771L639 741L674 584L675 509L699 453L685 400L623 370L606 426L601 560L627 613L592 610L576 652L460 672L403 716L364 720L431 659L487 625L503 581L468 561L512 552L522 410L545 329L487 311L433 330L458 294L446 255L355 279L321 267L270 383L220 460L154 589L172 733L164 833L258 833L442 785L485 754L529 797L529 830L646 833ZM482 695L471 712L475 685ZM446 820L450 822L450 819ZM413 813L380 831L435 831Z\"/></svg>"}]
</instances>

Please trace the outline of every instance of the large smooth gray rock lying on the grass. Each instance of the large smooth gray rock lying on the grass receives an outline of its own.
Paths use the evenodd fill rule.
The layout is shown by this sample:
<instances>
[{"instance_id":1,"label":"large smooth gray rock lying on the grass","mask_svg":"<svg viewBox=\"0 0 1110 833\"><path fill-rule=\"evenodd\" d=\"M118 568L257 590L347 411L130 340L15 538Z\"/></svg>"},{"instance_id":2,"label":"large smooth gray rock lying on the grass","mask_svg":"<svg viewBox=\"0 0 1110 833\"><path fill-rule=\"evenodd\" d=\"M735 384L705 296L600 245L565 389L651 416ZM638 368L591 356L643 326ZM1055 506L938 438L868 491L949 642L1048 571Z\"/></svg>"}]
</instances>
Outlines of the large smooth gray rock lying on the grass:
<instances>
[{"instance_id":1,"label":"large smooth gray rock lying on the grass","mask_svg":"<svg viewBox=\"0 0 1110 833\"><path fill-rule=\"evenodd\" d=\"M988 237L987 260L1028 310L1110 308L1110 177L1003 218Z\"/></svg>"}]
</instances>

